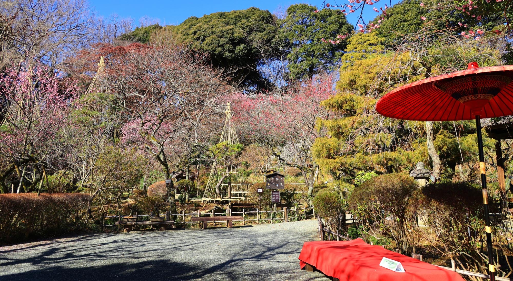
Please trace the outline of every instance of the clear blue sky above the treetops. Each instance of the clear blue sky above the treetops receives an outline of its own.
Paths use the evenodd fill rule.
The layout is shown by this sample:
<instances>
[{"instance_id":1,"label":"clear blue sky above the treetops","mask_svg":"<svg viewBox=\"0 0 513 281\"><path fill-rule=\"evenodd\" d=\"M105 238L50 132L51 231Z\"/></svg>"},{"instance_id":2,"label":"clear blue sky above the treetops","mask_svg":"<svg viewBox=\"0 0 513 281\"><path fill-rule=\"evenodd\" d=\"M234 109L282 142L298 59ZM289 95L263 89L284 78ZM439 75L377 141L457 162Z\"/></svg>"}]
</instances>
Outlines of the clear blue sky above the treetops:
<instances>
[{"instance_id":1,"label":"clear blue sky above the treetops","mask_svg":"<svg viewBox=\"0 0 513 281\"><path fill-rule=\"evenodd\" d=\"M392 4L396 4L398 0L392 0ZM271 13L282 8L286 10L288 6L296 3L307 3L320 7L322 0L313 1L287 1L287 0L198 0L198 1L156 1L156 0L89 0L91 9L96 11L98 15L108 17L113 13L121 17L131 17L134 20L134 26L139 25L139 19L143 16L160 19L161 25L177 25L182 23L190 16L201 17L205 14L214 12L226 12L231 10L243 10L249 7L257 7L262 10L269 10ZM328 0L327 3L330 3ZM338 1L339 4L345 1ZM332 1L330 4L334 4ZM369 6L364 11L365 20L371 20L377 12L372 11L372 7L384 7L387 4L390 6L390 0L382 0L374 6ZM355 24L358 15L348 15L348 20L351 24Z\"/></svg>"}]
</instances>

